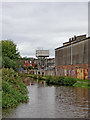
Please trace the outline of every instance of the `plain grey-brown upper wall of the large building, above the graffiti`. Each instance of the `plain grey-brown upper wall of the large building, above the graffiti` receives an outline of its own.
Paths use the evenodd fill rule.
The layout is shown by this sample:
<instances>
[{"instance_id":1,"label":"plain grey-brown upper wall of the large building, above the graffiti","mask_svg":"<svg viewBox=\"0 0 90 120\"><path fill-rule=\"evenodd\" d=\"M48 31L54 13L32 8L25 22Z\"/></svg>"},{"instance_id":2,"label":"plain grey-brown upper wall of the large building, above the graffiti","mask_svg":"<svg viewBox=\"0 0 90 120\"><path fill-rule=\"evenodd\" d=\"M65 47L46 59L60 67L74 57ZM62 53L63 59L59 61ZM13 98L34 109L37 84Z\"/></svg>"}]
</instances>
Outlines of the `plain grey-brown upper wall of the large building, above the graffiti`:
<instances>
[{"instance_id":1,"label":"plain grey-brown upper wall of the large building, above the graffiti","mask_svg":"<svg viewBox=\"0 0 90 120\"><path fill-rule=\"evenodd\" d=\"M57 65L71 64L71 49L72 49L72 64L87 64L88 63L88 40L64 46L55 50L55 63Z\"/></svg>"}]
</instances>

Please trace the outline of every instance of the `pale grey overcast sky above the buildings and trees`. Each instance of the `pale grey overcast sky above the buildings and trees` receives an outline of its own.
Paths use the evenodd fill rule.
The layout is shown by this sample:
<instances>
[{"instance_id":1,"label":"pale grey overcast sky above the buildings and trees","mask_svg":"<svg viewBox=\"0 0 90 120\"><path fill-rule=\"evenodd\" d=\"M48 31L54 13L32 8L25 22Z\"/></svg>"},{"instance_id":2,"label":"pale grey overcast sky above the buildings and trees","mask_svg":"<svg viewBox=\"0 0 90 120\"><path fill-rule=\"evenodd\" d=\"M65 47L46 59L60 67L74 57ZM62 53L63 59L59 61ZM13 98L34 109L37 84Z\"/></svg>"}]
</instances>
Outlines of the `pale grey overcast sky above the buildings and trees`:
<instances>
[{"instance_id":1,"label":"pale grey overcast sky above the buildings and trees","mask_svg":"<svg viewBox=\"0 0 90 120\"><path fill-rule=\"evenodd\" d=\"M88 36L88 3L5 2L2 4L2 39L12 39L21 56L35 57L36 49L50 50L74 35Z\"/></svg>"}]
</instances>

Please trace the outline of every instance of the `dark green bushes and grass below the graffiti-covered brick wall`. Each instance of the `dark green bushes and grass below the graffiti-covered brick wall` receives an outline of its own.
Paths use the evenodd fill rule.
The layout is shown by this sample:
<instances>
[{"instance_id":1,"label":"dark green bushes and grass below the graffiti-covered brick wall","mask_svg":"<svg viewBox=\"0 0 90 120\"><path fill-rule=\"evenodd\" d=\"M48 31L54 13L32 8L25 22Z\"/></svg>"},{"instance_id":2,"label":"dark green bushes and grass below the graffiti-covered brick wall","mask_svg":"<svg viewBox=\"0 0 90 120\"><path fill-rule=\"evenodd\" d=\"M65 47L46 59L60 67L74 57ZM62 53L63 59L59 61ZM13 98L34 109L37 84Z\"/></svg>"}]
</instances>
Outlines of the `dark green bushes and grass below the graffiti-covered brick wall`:
<instances>
[{"instance_id":1,"label":"dark green bushes and grass below the graffiti-covered brick wall","mask_svg":"<svg viewBox=\"0 0 90 120\"><path fill-rule=\"evenodd\" d=\"M89 80L81 80L81 79L77 79L77 78L73 78L73 77L46 76L46 83L48 85L62 85L62 86L90 88Z\"/></svg>"}]
</instances>

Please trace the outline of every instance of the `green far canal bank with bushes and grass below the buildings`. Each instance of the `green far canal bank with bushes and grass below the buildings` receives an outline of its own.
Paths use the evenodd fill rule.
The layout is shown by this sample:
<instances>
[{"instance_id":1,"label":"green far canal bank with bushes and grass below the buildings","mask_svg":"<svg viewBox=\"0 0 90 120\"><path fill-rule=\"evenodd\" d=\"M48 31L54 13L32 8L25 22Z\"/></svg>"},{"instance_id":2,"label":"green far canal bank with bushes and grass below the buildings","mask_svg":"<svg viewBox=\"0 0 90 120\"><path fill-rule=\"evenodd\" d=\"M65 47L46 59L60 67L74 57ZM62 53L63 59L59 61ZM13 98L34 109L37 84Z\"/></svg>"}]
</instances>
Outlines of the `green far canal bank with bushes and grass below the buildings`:
<instances>
[{"instance_id":1,"label":"green far canal bank with bushes and grass below the buildings","mask_svg":"<svg viewBox=\"0 0 90 120\"><path fill-rule=\"evenodd\" d=\"M34 74L21 74L21 76L31 77L33 79L45 80L48 84L51 85L63 85L63 86L74 86L74 87L83 87L90 88L90 80L81 80L73 77L64 77L64 76L41 76Z\"/></svg>"}]
</instances>

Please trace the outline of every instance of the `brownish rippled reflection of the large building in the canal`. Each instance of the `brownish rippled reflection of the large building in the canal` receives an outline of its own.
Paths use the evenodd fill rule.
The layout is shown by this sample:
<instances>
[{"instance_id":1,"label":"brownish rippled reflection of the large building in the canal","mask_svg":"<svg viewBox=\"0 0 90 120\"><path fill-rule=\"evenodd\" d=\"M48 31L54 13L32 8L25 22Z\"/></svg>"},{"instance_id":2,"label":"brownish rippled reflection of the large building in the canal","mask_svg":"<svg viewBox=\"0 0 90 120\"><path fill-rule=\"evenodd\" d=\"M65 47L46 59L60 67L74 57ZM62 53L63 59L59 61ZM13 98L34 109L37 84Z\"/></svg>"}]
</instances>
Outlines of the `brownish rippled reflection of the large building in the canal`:
<instances>
[{"instance_id":1,"label":"brownish rippled reflection of the large building in the canal","mask_svg":"<svg viewBox=\"0 0 90 120\"><path fill-rule=\"evenodd\" d=\"M70 117L88 117L88 89L64 86L56 87L55 102L55 108L61 110L62 114L66 113Z\"/></svg>"}]
</instances>

